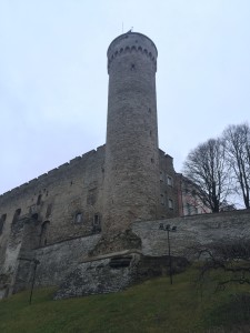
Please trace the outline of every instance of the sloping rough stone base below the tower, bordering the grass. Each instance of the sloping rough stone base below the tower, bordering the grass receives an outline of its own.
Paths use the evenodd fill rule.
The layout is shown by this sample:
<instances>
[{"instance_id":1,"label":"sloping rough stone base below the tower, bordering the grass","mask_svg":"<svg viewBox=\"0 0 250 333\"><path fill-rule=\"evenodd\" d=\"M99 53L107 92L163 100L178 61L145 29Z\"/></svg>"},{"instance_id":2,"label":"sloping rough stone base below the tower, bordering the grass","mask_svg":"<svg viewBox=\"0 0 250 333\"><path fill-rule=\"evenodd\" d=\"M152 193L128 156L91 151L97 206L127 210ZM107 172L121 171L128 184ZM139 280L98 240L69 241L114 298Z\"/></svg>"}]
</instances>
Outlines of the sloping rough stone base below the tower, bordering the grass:
<instances>
[{"instance_id":1,"label":"sloping rough stone base below the tower, bordering the grass","mask_svg":"<svg viewBox=\"0 0 250 333\"><path fill-rule=\"evenodd\" d=\"M172 272L186 269L188 261L172 259ZM126 287L150 278L169 273L168 256L144 256L140 252L123 251L79 263L67 276L54 299L103 294Z\"/></svg>"}]
</instances>

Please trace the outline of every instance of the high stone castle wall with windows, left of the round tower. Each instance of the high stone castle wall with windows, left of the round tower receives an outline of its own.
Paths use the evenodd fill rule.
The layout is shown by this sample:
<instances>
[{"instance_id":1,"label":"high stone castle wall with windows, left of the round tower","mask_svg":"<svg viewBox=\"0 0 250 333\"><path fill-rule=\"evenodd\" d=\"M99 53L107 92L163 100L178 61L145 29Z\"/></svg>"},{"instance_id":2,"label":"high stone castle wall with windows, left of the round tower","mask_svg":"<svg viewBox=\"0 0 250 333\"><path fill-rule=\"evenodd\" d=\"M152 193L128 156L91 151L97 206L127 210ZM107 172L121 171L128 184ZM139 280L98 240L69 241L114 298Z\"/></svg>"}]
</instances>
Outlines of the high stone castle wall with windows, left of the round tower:
<instances>
[{"instance_id":1,"label":"high stone castle wall with windows, left of the round tower","mask_svg":"<svg viewBox=\"0 0 250 333\"><path fill-rule=\"evenodd\" d=\"M103 167L100 147L0 196L0 274L14 281L23 251L100 232Z\"/></svg>"}]
</instances>

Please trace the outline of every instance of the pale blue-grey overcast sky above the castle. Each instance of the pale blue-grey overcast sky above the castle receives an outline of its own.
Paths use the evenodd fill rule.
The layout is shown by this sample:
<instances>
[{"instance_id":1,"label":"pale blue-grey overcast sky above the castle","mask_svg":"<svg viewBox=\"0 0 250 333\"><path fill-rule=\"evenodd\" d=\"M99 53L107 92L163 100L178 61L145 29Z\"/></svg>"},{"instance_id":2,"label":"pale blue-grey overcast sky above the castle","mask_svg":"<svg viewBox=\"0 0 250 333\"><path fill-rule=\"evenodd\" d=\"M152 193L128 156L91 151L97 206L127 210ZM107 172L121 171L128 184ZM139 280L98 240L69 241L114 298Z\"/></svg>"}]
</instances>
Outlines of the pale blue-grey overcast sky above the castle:
<instances>
[{"instance_id":1,"label":"pale blue-grey overcast sky above the castle","mask_svg":"<svg viewBox=\"0 0 250 333\"><path fill-rule=\"evenodd\" d=\"M158 48L159 143L176 171L249 121L249 0L0 0L0 193L104 143L122 26Z\"/></svg>"}]
</instances>

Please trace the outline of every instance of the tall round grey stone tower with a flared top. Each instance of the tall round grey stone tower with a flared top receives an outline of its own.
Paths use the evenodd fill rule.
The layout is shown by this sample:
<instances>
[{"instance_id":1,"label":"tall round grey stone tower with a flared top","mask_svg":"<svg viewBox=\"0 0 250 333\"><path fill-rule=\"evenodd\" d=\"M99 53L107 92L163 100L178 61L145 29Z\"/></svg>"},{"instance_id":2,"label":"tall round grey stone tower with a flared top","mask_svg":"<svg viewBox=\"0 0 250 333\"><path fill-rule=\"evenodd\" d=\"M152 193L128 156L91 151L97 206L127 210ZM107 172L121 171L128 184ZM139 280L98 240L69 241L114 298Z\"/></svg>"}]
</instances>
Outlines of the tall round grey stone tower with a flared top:
<instances>
[{"instance_id":1,"label":"tall round grey stone tower with a flared top","mask_svg":"<svg viewBox=\"0 0 250 333\"><path fill-rule=\"evenodd\" d=\"M119 36L108 49L104 234L157 218L157 56L154 43L137 32Z\"/></svg>"}]
</instances>

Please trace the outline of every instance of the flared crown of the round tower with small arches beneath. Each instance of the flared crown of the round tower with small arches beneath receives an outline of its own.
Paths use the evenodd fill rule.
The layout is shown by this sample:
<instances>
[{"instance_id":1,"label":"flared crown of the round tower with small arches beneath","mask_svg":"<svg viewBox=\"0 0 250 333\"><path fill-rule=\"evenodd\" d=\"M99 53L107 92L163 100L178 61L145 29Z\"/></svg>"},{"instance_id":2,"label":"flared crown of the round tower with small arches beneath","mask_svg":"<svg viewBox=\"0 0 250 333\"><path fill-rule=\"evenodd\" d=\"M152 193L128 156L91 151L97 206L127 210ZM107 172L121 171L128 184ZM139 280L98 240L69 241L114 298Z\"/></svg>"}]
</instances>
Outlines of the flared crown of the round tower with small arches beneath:
<instances>
[{"instance_id":1,"label":"flared crown of the round tower with small arches beneath","mask_svg":"<svg viewBox=\"0 0 250 333\"><path fill-rule=\"evenodd\" d=\"M109 46L108 56L108 72L111 62L119 56L131 52L140 52L152 60L157 71L158 51L154 43L147 36L138 32L128 32L116 38Z\"/></svg>"}]
</instances>

